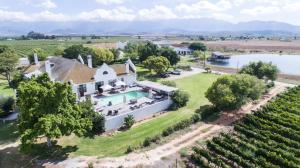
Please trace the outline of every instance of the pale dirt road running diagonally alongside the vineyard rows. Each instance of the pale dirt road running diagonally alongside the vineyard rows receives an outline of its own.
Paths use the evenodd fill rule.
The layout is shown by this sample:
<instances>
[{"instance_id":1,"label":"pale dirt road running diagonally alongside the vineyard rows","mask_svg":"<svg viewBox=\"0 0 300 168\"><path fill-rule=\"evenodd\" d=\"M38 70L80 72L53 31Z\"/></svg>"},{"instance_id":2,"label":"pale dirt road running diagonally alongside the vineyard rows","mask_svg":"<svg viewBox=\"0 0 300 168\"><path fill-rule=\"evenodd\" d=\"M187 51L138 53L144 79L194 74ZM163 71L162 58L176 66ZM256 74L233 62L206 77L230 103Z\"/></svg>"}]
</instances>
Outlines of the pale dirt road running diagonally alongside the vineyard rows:
<instances>
[{"instance_id":1,"label":"pale dirt road running diagonally alongside the vineyard rows","mask_svg":"<svg viewBox=\"0 0 300 168\"><path fill-rule=\"evenodd\" d=\"M97 157L75 157L69 158L65 161L58 163L45 163L43 166L46 167L87 167L88 163L93 163L94 167L136 167L136 166L151 166L155 162L161 160L164 157L172 155L178 152L184 147L193 145L197 140L205 140L213 135L226 129L234 121L241 119L246 114L250 113L251 110L255 110L262 105L265 105L269 100L271 100L277 94L283 92L286 87L291 85L286 85L283 83L276 83L276 87L265 95L258 104L248 104L242 107L240 110L224 112L220 118L213 123L206 123L197 129L186 133L180 137L177 137L170 142L158 146L149 151L141 153L131 153L129 155L121 157L109 157L109 158L97 158Z\"/></svg>"}]
</instances>

